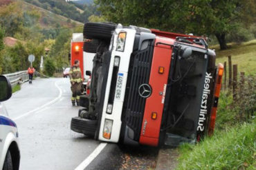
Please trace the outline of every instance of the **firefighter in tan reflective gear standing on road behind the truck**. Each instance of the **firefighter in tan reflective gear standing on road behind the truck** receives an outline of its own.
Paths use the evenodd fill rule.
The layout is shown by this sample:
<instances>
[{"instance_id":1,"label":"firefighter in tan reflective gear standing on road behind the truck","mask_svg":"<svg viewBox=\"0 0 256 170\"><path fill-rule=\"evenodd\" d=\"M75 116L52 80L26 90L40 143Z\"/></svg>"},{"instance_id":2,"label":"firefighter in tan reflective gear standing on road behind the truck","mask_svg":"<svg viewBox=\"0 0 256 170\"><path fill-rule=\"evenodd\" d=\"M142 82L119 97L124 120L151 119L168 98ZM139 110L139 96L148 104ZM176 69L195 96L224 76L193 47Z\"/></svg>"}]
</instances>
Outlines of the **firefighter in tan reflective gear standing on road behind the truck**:
<instances>
[{"instance_id":1,"label":"firefighter in tan reflective gear standing on road behind the truck","mask_svg":"<svg viewBox=\"0 0 256 170\"><path fill-rule=\"evenodd\" d=\"M75 60L73 67L69 71L69 76L71 78L71 91L72 91L72 105L79 105L81 89L82 89L82 73L79 67L80 63L78 60Z\"/></svg>"}]
</instances>

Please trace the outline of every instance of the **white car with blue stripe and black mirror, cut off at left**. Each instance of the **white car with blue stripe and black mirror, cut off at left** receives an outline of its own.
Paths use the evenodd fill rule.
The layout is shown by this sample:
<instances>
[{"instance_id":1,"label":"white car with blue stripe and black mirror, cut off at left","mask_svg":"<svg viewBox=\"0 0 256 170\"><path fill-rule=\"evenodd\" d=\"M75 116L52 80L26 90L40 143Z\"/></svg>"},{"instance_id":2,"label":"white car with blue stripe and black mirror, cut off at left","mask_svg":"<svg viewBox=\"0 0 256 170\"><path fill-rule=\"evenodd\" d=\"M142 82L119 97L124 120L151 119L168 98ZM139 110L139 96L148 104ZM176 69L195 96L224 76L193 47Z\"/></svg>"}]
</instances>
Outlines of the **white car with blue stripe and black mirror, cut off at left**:
<instances>
[{"instance_id":1,"label":"white car with blue stripe and black mirror, cut off at left","mask_svg":"<svg viewBox=\"0 0 256 170\"><path fill-rule=\"evenodd\" d=\"M1 103L12 96L10 82L5 76L0 76L0 169L19 169L19 141L17 125L9 117L6 108Z\"/></svg>"}]
</instances>

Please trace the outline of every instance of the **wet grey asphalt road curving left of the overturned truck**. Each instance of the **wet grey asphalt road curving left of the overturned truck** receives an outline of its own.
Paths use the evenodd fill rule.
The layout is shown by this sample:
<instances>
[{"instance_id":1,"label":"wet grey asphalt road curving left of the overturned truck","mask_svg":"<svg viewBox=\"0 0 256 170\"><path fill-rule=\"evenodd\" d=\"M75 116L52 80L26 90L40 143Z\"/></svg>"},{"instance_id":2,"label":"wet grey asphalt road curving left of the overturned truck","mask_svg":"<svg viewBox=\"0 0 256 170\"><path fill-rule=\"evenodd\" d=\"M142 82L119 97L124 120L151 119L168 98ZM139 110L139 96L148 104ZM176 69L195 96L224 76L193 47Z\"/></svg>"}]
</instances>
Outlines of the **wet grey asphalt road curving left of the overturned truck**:
<instances>
[{"instance_id":1,"label":"wet grey asphalt road curving left of the overturned truck","mask_svg":"<svg viewBox=\"0 0 256 170\"><path fill-rule=\"evenodd\" d=\"M70 129L71 118L80 107L71 105L69 78L37 78L32 85L24 83L4 104L17 123L21 170L75 169L100 145L100 141ZM109 146L103 150L112 152L113 145ZM101 151L99 155L107 154ZM102 159L104 162L104 158L99 161ZM99 167L95 160L93 164ZM91 164L89 167L93 169Z\"/></svg>"}]
</instances>

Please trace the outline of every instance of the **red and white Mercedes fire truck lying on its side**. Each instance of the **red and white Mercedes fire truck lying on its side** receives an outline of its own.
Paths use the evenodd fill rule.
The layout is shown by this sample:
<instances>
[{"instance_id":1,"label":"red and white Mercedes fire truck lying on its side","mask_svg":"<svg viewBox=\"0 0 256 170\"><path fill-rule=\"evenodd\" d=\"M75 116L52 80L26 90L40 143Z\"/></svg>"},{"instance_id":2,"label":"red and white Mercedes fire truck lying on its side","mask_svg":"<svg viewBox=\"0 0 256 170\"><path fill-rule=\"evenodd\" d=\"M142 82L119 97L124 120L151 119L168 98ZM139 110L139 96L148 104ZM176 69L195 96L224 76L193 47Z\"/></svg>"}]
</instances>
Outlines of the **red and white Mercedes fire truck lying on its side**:
<instances>
[{"instance_id":1,"label":"red and white Mercedes fire truck lying on its side","mask_svg":"<svg viewBox=\"0 0 256 170\"><path fill-rule=\"evenodd\" d=\"M97 39L73 131L127 145L194 143L214 130L223 65L198 36L85 23Z\"/></svg>"}]
</instances>

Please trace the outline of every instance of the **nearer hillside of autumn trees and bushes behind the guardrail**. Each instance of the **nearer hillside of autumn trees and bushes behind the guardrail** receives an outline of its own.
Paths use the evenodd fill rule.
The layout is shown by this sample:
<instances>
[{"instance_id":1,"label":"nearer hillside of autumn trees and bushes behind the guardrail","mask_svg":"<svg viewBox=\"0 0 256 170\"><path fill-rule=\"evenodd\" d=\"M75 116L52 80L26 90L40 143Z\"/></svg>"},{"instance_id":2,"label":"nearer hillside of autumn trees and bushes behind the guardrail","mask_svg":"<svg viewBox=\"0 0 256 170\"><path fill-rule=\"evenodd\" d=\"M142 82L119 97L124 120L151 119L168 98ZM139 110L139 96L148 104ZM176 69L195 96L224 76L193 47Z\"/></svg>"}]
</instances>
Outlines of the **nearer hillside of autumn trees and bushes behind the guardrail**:
<instances>
[{"instance_id":1,"label":"nearer hillside of autumn trees and bushes behind the guardrail","mask_svg":"<svg viewBox=\"0 0 256 170\"><path fill-rule=\"evenodd\" d=\"M55 72L53 68L62 70L67 67L71 33L82 32L83 26L71 19L67 23L67 20L23 1L8 1L0 6L0 74L26 70L30 65L29 54L35 55L33 66L36 70L39 70L41 56L47 62L53 62L49 73L44 70L48 75ZM6 36L14 37L17 43L4 45ZM45 48L50 50L49 54Z\"/></svg>"}]
</instances>

